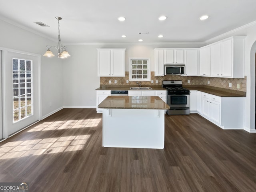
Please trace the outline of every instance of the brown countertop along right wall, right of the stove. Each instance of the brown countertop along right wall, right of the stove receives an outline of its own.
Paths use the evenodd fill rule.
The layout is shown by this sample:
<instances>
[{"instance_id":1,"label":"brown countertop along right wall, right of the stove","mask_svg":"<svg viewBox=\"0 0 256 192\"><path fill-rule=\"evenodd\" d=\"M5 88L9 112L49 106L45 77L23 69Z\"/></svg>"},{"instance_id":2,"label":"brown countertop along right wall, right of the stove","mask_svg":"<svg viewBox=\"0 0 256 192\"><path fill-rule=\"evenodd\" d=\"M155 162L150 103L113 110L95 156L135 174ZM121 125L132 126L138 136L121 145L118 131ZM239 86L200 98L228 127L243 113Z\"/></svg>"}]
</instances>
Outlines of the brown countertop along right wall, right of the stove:
<instances>
[{"instance_id":1,"label":"brown countertop along right wall, right of the stove","mask_svg":"<svg viewBox=\"0 0 256 192\"><path fill-rule=\"evenodd\" d=\"M184 85L183 87L189 90L202 91L220 97L246 97L246 92L243 91L236 91L206 85Z\"/></svg>"}]
</instances>

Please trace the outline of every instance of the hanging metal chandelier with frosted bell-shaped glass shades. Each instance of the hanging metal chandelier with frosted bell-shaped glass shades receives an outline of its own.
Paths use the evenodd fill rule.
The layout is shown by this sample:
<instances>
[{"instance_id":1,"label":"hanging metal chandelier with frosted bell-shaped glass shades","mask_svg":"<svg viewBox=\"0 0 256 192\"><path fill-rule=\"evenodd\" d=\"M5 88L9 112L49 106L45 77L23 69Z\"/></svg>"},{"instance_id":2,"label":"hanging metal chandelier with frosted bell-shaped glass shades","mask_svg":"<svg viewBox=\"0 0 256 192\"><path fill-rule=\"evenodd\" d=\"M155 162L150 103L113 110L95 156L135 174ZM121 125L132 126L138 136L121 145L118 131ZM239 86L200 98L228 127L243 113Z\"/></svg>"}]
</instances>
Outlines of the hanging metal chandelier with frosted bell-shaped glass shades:
<instances>
[{"instance_id":1,"label":"hanging metal chandelier with frosted bell-shaped glass shades","mask_svg":"<svg viewBox=\"0 0 256 192\"><path fill-rule=\"evenodd\" d=\"M58 29L59 29L59 35L58 35L58 45L57 46L49 46L46 45L47 51L45 52L44 56L46 57L54 57L55 55L52 53L50 48L54 47L58 51L58 58L67 58L70 57L70 54L66 51L66 46L63 46L60 42L60 20L62 20L61 17L55 17L58 20Z\"/></svg>"}]
</instances>

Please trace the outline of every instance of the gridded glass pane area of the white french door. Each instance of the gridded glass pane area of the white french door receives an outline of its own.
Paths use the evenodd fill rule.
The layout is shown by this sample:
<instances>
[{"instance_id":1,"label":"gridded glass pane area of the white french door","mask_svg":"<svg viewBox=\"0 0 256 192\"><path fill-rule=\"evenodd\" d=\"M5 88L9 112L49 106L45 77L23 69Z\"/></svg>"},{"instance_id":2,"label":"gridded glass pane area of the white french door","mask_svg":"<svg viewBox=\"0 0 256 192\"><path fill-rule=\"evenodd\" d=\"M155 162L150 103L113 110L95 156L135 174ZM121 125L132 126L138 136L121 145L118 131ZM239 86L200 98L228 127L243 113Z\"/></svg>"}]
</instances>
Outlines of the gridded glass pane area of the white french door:
<instances>
[{"instance_id":1,"label":"gridded glass pane area of the white french door","mask_svg":"<svg viewBox=\"0 0 256 192\"><path fill-rule=\"evenodd\" d=\"M13 122L33 114L32 61L12 59Z\"/></svg>"}]
</instances>

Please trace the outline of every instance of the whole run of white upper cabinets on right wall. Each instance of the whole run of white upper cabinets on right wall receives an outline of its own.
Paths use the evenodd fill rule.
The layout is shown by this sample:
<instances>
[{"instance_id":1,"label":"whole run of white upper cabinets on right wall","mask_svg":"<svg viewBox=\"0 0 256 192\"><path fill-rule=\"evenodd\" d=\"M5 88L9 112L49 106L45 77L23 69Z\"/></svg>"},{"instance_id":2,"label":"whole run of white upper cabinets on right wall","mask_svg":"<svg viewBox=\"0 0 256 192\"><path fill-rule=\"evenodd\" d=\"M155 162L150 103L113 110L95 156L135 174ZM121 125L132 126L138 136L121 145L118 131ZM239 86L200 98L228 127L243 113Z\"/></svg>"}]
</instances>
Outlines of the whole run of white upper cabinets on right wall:
<instances>
[{"instance_id":1,"label":"whole run of white upper cabinets on right wall","mask_svg":"<svg viewBox=\"0 0 256 192\"><path fill-rule=\"evenodd\" d=\"M234 36L200 48L200 76L244 78L244 38Z\"/></svg>"}]
</instances>

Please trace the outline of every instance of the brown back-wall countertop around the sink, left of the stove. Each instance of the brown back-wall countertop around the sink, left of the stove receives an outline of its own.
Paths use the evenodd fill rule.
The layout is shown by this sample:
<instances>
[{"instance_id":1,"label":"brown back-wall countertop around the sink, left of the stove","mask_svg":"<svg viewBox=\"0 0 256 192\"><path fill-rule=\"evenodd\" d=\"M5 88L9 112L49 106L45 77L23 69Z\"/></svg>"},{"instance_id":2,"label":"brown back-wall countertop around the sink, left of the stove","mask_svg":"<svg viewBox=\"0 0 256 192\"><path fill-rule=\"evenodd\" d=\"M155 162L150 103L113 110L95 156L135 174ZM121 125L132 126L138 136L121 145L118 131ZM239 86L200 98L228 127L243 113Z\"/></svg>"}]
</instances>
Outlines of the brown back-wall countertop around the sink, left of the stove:
<instances>
[{"instance_id":1,"label":"brown back-wall countertop around the sink, left of the stove","mask_svg":"<svg viewBox=\"0 0 256 192\"><path fill-rule=\"evenodd\" d=\"M100 85L96 90L131 90L130 87L138 87L138 85ZM162 85L143 85L142 87L151 87L149 90L166 90ZM140 90L141 91L141 90Z\"/></svg>"}]
</instances>

